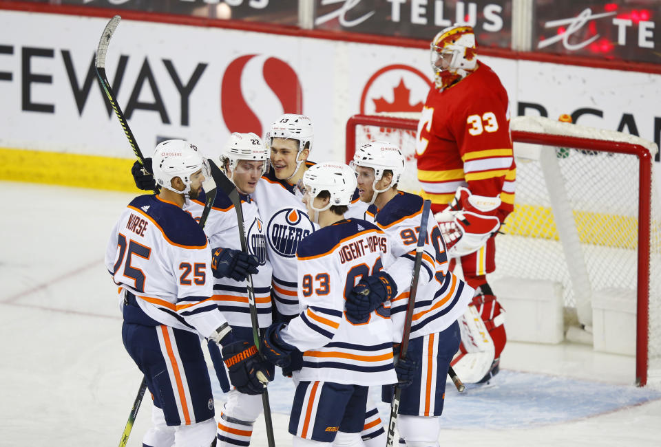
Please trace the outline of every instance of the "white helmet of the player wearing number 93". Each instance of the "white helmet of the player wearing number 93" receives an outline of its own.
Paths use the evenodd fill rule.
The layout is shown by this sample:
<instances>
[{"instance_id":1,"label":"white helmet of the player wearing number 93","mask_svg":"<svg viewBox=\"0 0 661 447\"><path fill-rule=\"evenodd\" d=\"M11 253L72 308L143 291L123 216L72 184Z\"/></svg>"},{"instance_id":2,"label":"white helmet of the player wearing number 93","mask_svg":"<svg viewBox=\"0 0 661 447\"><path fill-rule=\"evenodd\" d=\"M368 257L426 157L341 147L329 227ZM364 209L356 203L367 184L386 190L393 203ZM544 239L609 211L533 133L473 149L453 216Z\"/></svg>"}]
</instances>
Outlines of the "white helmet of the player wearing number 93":
<instances>
[{"instance_id":1,"label":"white helmet of the player wearing number 93","mask_svg":"<svg viewBox=\"0 0 661 447\"><path fill-rule=\"evenodd\" d=\"M315 210L315 223L319 223L319 212L328 210L331 206L348 206L357 186L353 169L336 162L310 166L303 174L302 183L304 194L311 199L315 199L322 191L330 193L330 200L324 208L315 208L314 201L311 202L311 208Z\"/></svg>"}]
</instances>

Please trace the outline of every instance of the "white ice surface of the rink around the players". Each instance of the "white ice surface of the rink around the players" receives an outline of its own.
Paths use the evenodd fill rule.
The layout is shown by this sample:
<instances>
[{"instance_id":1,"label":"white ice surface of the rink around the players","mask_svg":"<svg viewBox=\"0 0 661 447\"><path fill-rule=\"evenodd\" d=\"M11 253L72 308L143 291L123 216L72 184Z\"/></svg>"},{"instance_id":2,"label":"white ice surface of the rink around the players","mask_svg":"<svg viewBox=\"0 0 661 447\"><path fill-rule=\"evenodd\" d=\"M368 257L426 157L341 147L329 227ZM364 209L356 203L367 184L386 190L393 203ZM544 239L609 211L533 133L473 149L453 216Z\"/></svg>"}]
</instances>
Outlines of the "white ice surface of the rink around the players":
<instances>
[{"instance_id":1,"label":"white ice surface of the rink around the players","mask_svg":"<svg viewBox=\"0 0 661 447\"><path fill-rule=\"evenodd\" d=\"M0 198L0 445L116 445L140 373L103 254L132 195L0 182ZM633 386L631 357L510 342L502 368L491 387L448 386L441 446L661 445L660 394ZM288 446L278 408L291 392L284 379L271 390L276 444ZM149 426L148 396L129 446ZM266 446L263 419L251 445Z\"/></svg>"}]
</instances>

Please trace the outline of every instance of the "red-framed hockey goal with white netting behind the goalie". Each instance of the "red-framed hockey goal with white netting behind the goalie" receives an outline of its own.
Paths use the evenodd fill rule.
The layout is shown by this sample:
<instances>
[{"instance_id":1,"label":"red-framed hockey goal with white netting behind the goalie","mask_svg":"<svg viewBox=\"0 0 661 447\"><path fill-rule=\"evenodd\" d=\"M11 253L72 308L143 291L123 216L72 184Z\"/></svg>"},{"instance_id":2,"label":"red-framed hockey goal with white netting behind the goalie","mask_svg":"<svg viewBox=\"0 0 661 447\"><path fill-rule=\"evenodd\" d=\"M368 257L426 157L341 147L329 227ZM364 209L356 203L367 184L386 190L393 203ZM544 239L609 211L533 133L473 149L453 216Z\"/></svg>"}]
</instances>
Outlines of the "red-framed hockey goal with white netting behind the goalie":
<instances>
[{"instance_id":1,"label":"red-framed hockey goal with white netting behind the goalie","mask_svg":"<svg viewBox=\"0 0 661 447\"><path fill-rule=\"evenodd\" d=\"M417 193L419 114L357 115L346 159L372 140L406 155L400 188ZM565 331L591 332L593 298L629 299L636 315L636 384L661 383L661 217L653 184L655 144L633 135L541 117L512 118L514 212L497 239L499 277L562 285ZM633 336L633 334L631 334Z\"/></svg>"}]
</instances>

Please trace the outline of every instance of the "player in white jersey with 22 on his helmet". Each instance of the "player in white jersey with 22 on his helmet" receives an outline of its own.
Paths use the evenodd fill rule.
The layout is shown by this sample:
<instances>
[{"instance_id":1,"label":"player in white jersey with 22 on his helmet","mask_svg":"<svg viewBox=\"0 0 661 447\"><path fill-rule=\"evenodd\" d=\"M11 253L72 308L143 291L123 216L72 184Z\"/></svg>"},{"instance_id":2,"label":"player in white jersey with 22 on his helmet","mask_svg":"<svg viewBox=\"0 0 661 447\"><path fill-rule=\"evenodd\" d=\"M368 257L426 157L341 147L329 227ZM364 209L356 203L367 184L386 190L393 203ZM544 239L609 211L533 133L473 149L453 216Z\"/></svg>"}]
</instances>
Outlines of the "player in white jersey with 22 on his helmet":
<instances>
[{"instance_id":1,"label":"player in white jersey with 22 on his helmet","mask_svg":"<svg viewBox=\"0 0 661 447\"><path fill-rule=\"evenodd\" d=\"M236 212L226 195L216 195L204 226L212 247L213 301L232 327L229 338L250 345L254 342L246 289L249 273L252 274L258 325L260 328L271 325L272 268L266 256L266 228L251 198L268 163L269 150L255 133L232 133L220 154L220 166L239 192L249 254L241 251ZM203 206L203 202L193 201L186 209L193 217L198 217ZM273 373L271 365L268 376L272 378ZM262 385L258 384L256 389L240 387L229 391L218 422L217 447L248 445L253 424L263 409L261 389Z\"/></svg>"}]
</instances>

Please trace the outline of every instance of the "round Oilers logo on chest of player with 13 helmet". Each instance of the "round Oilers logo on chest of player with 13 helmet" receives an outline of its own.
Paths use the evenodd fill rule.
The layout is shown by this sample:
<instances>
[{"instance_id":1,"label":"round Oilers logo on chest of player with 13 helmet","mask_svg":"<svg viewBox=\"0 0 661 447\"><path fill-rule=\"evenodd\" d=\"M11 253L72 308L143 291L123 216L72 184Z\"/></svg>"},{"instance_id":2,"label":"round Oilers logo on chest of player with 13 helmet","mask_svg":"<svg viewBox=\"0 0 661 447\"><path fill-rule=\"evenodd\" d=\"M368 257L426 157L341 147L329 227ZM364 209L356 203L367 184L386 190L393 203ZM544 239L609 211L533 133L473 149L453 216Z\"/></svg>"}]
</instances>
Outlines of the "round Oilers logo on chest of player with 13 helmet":
<instances>
[{"instance_id":1,"label":"round Oilers logo on chest of player with 13 helmet","mask_svg":"<svg viewBox=\"0 0 661 447\"><path fill-rule=\"evenodd\" d=\"M269 245L277 254L293 258L296 256L298 243L314 231L315 226L308 215L296 208L284 208L271 217L266 235Z\"/></svg>"}]
</instances>

